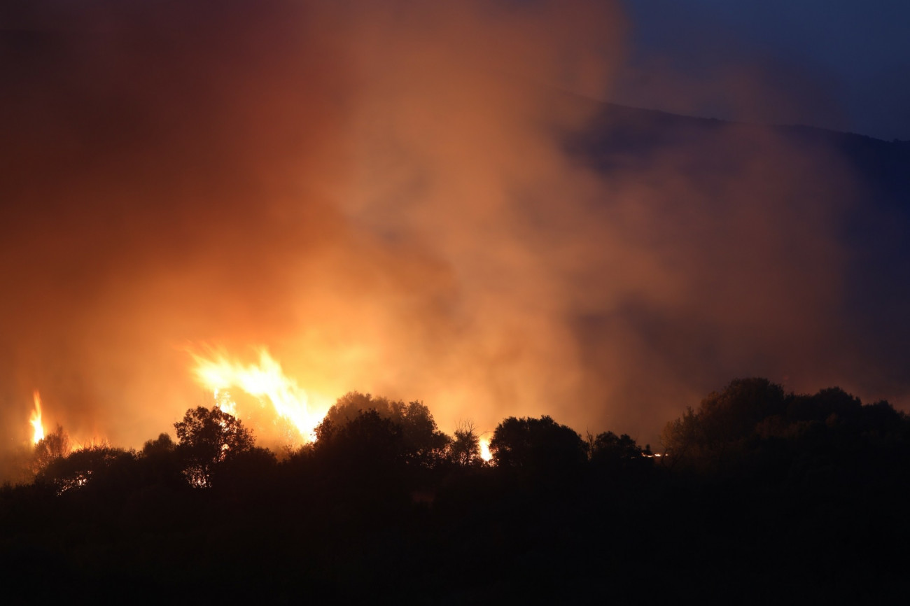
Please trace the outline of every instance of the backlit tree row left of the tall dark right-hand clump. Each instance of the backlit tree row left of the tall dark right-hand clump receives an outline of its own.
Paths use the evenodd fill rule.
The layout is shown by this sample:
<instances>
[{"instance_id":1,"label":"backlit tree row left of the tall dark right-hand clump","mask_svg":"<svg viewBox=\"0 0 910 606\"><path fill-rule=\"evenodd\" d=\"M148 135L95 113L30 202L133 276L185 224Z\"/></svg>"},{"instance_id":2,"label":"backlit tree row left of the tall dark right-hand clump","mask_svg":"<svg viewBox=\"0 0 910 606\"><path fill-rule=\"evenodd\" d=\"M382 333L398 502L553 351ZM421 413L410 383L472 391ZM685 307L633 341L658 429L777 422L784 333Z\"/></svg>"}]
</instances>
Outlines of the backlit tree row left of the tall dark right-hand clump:
<instances>
[{"instance_id":1,"label":"backlit tree row left of the tall dark right-hand clump","mask_svg":"<svg viewBox=\"0 0 910 606\"><path fill-rule=\"evenodd\" d=\"M492 460L485 461L480 456L480 434L472 422L461 423L450 436L440 431L420 400L406 404L357 391L339 398L316 428L316 441L298 449L287 447L276 453L258 447L252 429L217 407L188 409L174 429L176 442L161 433L139 450L102 442L71 451L66 431L57 426L35 445L28 470L35 484L63 494L89 481L129 475L129 467L157 468L175 481L179 477L190 487L206 489L255 466L308 463L325 466L339 476L379 470L432 471L439 476L498 467L531 477L587 465L644 469L653 458L650 445L642 448L626 434L605 431L582 438L544 415L503 419L490 439Z\"/></svg>"}]
</instances>

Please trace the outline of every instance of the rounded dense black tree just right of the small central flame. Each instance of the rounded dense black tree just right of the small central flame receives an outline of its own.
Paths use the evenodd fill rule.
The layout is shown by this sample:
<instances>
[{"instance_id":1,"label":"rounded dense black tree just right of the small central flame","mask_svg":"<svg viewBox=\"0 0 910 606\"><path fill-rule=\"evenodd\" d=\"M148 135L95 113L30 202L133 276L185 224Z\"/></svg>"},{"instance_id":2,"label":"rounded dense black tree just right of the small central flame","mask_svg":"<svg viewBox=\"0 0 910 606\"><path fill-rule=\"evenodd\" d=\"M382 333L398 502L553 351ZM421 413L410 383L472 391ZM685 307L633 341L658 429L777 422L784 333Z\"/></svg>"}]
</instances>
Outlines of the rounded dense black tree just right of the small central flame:
<instances>
[{"instance_id":1,"label":"rounded dense black tree just right of the small central flame","mask_svg":"<svg viewBox=\"0 0 910 606\"><path fill-rule=\"evenodd\" d=\"M581 436L548 416L503 420L490 439L490 452L497 466L532 474L571 470L588 459Z\"/></svg>"}]
</instances>

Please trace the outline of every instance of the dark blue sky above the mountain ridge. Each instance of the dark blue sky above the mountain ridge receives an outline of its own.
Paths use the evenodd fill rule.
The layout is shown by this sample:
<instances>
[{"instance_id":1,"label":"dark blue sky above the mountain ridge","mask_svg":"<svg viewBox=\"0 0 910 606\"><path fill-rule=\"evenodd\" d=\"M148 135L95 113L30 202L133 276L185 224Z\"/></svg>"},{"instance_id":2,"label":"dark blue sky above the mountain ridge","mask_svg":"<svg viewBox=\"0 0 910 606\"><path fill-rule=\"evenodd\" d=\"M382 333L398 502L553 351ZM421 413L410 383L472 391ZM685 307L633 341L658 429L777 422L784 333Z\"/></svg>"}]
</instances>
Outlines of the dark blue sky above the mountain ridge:
<instances>
[{"instance_id":1,"label":"dark blue sky above the mountain ridge","mask_svg":"<svg viewBox=\"0 0 910 606\"><path fill-rule=\"evenodd\" d=\"M622 0L616 101L910 139L906 0Z\"/></svg>"}]
</instances>

